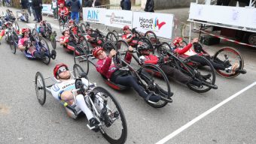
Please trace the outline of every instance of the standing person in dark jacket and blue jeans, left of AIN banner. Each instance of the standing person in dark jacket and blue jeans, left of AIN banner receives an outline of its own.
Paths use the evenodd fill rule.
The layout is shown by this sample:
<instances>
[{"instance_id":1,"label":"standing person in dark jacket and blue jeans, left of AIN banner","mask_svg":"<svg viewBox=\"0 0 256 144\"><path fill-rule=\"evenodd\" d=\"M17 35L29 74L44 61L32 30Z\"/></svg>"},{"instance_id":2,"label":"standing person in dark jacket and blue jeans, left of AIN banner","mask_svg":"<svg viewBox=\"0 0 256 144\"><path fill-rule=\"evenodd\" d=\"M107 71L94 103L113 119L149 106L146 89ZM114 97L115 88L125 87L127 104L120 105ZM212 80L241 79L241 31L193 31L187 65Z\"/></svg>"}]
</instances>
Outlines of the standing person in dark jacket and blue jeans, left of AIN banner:
<instances>
[{"instance_id":1,"label":"standing person in dark jacket and blue jeans, left of AIN banner","mask_svg":"<svg viewBox=\"0 0 256 144\"><path fill-rule=\"evenodd\" d=\"M71 7L71 20L79 23L79 11L81 10L81 3L78 0L70 0L67 5Z\"/></svg>"}]
</instances>

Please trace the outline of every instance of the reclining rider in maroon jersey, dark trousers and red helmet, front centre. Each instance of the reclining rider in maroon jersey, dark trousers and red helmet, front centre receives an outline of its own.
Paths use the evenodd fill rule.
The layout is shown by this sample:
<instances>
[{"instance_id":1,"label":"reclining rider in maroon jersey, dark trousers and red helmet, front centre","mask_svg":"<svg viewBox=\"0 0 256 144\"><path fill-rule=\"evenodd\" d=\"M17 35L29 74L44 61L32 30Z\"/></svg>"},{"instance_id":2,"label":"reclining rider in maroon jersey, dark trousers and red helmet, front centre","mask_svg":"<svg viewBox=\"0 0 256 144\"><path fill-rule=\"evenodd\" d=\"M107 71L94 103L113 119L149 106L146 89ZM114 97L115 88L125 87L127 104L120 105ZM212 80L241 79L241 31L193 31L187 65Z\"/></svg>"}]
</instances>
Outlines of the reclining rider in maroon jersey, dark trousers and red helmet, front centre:
<instances>
[{"instance_id":1,"label":"reclining rider in maroon jersey, dark trousers and red helmet, front centre","mask_svg":"<svg viewBox=\"0 0 256 144\"><path fill-rule=\"evenodd\" d=\"M125 60L126 62L131 62L133 47L129 46L128 49L129 50L127 51ZM96 62L96 70L102 74L103 77L106 77L113 83L132 87L145 100L149 97L148 102L154 103L160 101L161 98L159 95L148 94L144 91L142 86L139 85L135 77L133 77L127 71L121 71L115 67L114 63L112 62L112 58L114 55L116 55L116 53L117 52L112 49L109 55L106 55L101 46L95 47L93 49L93 56L99 59L98 62Z\"/></svg>"}]
</instances>

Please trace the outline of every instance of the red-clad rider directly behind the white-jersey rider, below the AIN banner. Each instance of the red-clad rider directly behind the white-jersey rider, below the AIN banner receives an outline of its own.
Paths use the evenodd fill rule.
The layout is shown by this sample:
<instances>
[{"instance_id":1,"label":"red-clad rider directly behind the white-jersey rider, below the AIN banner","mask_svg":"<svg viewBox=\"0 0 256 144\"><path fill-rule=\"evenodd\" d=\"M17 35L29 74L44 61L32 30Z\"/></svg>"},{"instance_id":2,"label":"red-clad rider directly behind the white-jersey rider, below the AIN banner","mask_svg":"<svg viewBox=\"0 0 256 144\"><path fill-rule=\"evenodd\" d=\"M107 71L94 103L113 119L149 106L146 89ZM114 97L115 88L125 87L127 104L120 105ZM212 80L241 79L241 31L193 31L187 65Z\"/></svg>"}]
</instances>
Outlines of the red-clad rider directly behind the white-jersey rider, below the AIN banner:
<instances>
[{"instance_id":1,"label":"red-clad rider directly behind the white-jersey rider, below the AIN banner","mask_svg":"<svg viewBox=\"0 0 256 144\"><path fill-rule=\"evenodd\" d=\"M60 45L64 46L67 52L75 52L76 55L84 55L84 52L73 42L69 35L69 28L62 31L62 37L59 38Z\"/></svg>"}]
</instances>

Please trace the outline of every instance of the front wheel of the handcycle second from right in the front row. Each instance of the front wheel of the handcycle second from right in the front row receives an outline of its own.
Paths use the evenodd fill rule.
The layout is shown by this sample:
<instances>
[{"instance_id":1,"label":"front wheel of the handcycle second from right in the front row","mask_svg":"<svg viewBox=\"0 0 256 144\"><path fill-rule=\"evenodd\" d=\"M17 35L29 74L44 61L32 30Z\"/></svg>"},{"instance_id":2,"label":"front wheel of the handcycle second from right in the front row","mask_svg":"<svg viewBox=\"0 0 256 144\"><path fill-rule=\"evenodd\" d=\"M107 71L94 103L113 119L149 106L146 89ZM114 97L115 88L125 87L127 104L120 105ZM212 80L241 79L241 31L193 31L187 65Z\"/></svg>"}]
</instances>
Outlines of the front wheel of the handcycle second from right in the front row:
<instances>
[{"instance_id":1,"label":"front wheel of the handcycle second from right in the front row","mask_svg":"<svg viewBox=\"0 0 256 144\"><path fill-rule=\"evenodd\" d=\"M204 65L201 65L202 62ZM187 84L187 87L189 89L192 89L194 92L208 92L210 89L212 89L211 86L215 85L215 69L213 68L211 62L209 62L208 59L199 56L199 55L192 55L184 60L184 63L190 68L190 70L194 71L194 80L199 81L202 83L202 85L194 86L192 84ZM182 65L181 65L182 68ZM181 71L186 72L186 68L183 68ZM189 73L187 73L189 74Z\"/></svg>"}]
</instances>

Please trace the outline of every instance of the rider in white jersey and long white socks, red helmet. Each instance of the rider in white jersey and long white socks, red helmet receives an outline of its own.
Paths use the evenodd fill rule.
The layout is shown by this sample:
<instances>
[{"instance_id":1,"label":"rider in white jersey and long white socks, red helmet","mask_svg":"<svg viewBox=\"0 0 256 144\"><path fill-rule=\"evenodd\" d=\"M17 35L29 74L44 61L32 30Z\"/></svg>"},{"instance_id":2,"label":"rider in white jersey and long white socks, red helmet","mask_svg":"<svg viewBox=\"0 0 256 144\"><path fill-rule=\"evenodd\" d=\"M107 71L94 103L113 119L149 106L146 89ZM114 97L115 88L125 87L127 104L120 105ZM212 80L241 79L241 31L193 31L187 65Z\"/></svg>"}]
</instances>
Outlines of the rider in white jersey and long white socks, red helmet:
<instances>
[{"instance_id":1,"label":"rider in white jersey and long white socks, red helmet","mask_svg":"<svg viewBox=\"0 0 256 144\"><path fill-rule=\"evenodd\" d=\"M59 80L59 83L56 83L50 89L53 97L58 101L66 101L66 103L68 103L71 107L74 107L75 110L80 109L87 116L90 127L97 126L99 121L97 121L96 118L93 118L93 113L89 110L87 104L85 103L87 99L84 98L83 95L78 95L77 92L75 92L75 103L72 93L72 90L75 89L75 79L71 79L71 73L68 66L66 64L56 65L53 69L53 75L56 80ZM85 86L89 85L87 79L81 78L81 80ZM66 112L70 117L72 117L71 110L66 108Z\"/></svg>"}]
</instances>

